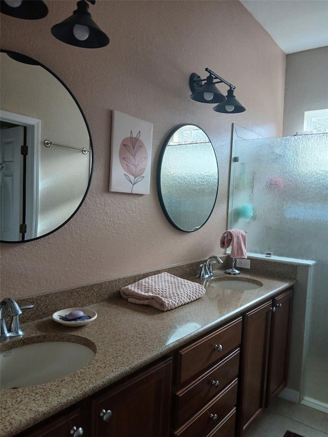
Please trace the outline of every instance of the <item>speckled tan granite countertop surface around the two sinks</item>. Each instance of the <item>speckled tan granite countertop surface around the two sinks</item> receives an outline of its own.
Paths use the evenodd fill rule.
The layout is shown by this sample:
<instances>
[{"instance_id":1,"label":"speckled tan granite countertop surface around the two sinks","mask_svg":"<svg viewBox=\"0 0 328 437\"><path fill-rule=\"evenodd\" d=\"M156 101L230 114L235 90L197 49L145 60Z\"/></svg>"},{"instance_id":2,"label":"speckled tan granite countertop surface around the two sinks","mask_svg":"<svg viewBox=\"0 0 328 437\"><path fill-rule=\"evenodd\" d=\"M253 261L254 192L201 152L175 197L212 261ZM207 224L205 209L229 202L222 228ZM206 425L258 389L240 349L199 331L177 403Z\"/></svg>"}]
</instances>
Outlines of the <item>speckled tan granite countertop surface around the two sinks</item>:
<instances>
[{"instance_id":1,"label":"speckled tan granite countertop surface around the two sinks","mask_svg":"<svg viewBox=\"0 0 328 437\"><path fill-rule=\"evenodd\" d=\"M231 279L222 272L216 275ZM2 437L11 437L50 417L296 282L244 273L238 277L241 278L261 281L263 286L247 291L218 290L209 281L202 298L166 312L135 305L117 296L90 305L98 317L85 326L60 325L51 315L23 324L24 337L2 344L1 350L62 340L85 344L96 354L90 364L65 378L33 387L1 390Z\"/></svg>"}]
</instances>

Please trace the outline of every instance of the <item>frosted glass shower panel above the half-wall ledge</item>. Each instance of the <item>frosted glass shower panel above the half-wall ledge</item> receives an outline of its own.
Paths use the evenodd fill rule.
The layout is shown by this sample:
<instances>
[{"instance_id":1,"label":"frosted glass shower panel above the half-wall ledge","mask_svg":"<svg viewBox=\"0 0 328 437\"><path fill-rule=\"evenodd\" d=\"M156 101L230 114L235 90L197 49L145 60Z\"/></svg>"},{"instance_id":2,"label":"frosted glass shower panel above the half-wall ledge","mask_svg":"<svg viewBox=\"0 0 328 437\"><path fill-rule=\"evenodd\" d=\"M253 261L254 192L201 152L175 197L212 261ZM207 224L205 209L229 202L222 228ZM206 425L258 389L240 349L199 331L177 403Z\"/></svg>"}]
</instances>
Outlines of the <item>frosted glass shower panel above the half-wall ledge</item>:
<instances>
[{"instance_id":1,"label":"frosted glass shower panel above the half-wall ledge","mask_svg":"<svg viewBox=\"0 0 328 437\"><path fill-rule=\"evenodd\" d=\"M248 231L248 252L326 258L328 134L241 140L233 149L229 225ZM306 242L316 240L311 258Z\"/></svg>"}]
</instances>

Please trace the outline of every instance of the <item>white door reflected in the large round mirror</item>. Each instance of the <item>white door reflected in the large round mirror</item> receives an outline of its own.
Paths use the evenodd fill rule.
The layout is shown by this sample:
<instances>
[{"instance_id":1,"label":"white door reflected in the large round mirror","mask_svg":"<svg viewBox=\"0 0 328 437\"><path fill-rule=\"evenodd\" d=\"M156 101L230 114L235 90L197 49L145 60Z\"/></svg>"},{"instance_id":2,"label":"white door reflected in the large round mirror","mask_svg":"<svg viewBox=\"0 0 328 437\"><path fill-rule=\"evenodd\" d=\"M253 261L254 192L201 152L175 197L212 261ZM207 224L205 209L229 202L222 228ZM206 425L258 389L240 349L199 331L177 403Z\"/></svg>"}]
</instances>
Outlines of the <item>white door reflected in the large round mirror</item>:
<instances>
[{"instance_id":1,"label":"white door reflected in the large round mirror","mask_svg":"<svg viewBox=\"0 0 328 437\"><path fill-rule=\"evenodd\" d=\"M0 141L0 237L19 241L22 223L23 174L20 171L20 146L24 144L24 127L2 129Z\"/></svg>"}]
</instances>

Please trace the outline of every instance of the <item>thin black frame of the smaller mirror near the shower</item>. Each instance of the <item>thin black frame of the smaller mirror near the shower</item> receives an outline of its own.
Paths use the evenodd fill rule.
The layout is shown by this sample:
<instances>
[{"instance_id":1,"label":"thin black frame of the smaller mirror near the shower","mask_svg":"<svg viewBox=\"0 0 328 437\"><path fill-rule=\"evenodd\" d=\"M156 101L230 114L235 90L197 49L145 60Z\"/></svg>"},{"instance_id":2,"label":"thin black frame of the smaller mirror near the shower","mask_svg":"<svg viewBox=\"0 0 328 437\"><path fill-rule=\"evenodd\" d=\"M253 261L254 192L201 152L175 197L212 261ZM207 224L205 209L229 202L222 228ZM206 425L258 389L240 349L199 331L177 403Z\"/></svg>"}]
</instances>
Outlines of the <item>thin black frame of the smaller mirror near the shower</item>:
<instances>
[{"instance_id":1,"label":"thin black frame of the smaller mirror near the shower","mask_svg":"<svg viewBox=\"0 0 328 437\"><path fill-rule=\"evenodd\" d=\"M203 222L202 225L200 225L199 227L197 227L196 229L193 229L193 230L191 230L191 231L186 231L185 229L181 229L181 228L180 228L176 223L174 223L174 221L171 219L171 217L170 217L170 215L169 215L169 213L168 213L168 211L167 211L167 209L166 209L166 207L165 207L164 201L163 201L162 190L161 190L161 168L162 168L163 156L164 156L164 154L165 154L165 150L166 150L166 148L167 148L167 145L168 145L169 140L171 139L172 135L173 135L176 131L178 131L180 128L183 128L183 126L195 126L196 128L198 128L198 129L200 129L201 131L203 131L204 134L207 135L207 133L206 133L202 128L200 128L199 126L197 126L197 124L193 124L193 123L184 123L184 124L179 124L175 129L173 129L173 130L169 133L169 135L167 136L167 138L166 138L165 141L163 142L163 145L162 145L162 148L161 148L161 150L160 150L159 157L158 157L157 173L156 173L157 195L158 195L158 200L159 200L159 203L160 203L161 209L162 209L163 213L165 214L165 217L166 217L166 218L168 219L168 221L172 224L172 226L174 226L178 231L182 231L182 232L195 232L195 231L198 231L201 227L204 226L204 224L206 224L206 223L208 222L209 218L211 217L211 215L212 215L212 213L213 213L213 210L214 210L214 207L215 207L215 203L216 203L216 199L217 199L217 195L218 195L218 191L219 191L219 167L218 167L217 157L216 157L216 153L215 153L215 150L214 150L214 147L213 147L212 141L210 140L210 137L207 135L207 137L209 138L209 141L210 141L210 143L211 143L211 145L212 145L212 148L213 148L213 151L214 151L214 154L215 154L216 165L217 165L217 187L216 187L216 196L215 196L215 200L214 200L214 202L213 202L213 207L212 207L212 210L211 210L211 212L210 212L208 218Z\"/></svg>"}]
</instances>

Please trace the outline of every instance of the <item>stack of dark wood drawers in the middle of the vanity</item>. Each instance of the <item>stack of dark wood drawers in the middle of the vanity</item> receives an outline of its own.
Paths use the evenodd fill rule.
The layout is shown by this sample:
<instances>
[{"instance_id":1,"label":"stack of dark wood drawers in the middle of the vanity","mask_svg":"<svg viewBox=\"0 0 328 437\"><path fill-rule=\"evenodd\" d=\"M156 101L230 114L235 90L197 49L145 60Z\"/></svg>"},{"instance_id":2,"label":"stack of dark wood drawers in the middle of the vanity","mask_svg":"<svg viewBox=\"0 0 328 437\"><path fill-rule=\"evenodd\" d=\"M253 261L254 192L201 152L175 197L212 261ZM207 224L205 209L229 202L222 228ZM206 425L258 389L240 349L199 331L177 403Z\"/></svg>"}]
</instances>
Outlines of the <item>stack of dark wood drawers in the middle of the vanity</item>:
<instances>
[{"instance_id":1,"label":"stack of dark wood drawers in the middle of the vanity","mask_svg":"<svg viewBox=\"0 0 328 437\"><path fill-rule=\"evenodd\" d=\"M176 352L174 437L234 437L242 318Z\"/></svg>"}]
</instances>

